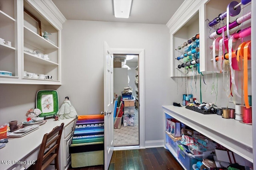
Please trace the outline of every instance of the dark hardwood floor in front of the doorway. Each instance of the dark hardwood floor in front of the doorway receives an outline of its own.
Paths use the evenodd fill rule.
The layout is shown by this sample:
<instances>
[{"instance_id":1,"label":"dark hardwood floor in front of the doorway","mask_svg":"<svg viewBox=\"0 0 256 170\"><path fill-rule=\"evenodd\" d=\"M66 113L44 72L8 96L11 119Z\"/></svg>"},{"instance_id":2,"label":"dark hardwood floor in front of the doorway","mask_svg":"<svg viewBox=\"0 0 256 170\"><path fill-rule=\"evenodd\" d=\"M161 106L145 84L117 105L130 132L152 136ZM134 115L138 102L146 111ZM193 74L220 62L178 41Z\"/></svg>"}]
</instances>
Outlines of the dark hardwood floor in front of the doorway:
<instances>
[{"instance_id":1,"label":"dark hardwood floor in front of the doorway","mask_svg":"<svg viewBox=\"0 0 256 170\"><path fill-rule=\"evenodd\" d=\"M69 170L104 170L103 165ZM172 154L164 149L115 150L108 170L183 170Z\"/></svg>"}]
</instances>

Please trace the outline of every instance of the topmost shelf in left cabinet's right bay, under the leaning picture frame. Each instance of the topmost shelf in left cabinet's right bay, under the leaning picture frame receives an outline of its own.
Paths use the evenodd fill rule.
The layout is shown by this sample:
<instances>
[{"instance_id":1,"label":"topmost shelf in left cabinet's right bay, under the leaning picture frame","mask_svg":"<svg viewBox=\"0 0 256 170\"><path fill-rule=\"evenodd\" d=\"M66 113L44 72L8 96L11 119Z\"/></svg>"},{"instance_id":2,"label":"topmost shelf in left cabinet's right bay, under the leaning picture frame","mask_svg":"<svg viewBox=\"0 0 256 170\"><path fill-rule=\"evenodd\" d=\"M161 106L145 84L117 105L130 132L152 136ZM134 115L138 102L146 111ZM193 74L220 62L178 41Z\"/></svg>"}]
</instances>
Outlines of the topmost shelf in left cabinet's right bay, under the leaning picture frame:
<instances>
[{"instance_id":1,"label":"topmost shelf in left cabinet's right bay, under the leaning picture frame","mask_svg":"<svg viewBox=\"0 0 256 170\"><path fill-rule=\"evenodd\" d=\"M33 44L34 46L40 47L43 49L55 49L56 50L59 48L26 26L24 26L24 42L28 43L28 44Z\"/></svg>"}]
</instances>

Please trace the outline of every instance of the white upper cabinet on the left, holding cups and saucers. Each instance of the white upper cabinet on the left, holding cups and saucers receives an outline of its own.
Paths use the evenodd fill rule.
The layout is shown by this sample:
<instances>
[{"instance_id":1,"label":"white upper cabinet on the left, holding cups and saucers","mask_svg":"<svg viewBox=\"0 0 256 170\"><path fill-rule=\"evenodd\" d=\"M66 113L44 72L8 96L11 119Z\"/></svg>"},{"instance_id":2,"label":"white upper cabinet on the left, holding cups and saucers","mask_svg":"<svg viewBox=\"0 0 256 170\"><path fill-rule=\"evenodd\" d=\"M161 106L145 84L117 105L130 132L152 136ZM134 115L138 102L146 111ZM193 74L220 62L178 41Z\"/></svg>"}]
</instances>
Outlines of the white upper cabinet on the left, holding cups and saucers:
<instances>
[{"instance_id":1,"label":"white upper cabinet on the left, holding cups and saucers","mask_svg":"<svg viewBox=\"0 0 256 170\"><path fill-rule=\"evenodd\" d=\"M0 4L0 38L12 41L12 47L1 44L0 70L12 76L1 75L0 83L61 84L64 16L52 1L0 0Z\"/></svg>"}]
</instances>

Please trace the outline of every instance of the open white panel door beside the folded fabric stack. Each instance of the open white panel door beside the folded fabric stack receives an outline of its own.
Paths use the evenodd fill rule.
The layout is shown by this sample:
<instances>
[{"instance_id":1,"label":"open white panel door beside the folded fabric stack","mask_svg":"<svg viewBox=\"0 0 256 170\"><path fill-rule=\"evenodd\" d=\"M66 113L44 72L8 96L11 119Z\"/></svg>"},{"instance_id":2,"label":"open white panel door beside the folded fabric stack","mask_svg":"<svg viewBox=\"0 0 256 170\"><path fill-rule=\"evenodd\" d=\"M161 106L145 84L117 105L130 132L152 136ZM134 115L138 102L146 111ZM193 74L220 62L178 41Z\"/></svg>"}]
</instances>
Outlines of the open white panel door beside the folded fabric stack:
<instances>
[{"instance_id":1,"label":"open white panel door beside the folded fabric stack","mask_svg":"<svg viewBox=\"0 0 256 170\"><path fill-rule=\"evenodd\" d=\"M104 169L108 170L114 150L113 53L104 42Z\"/></svg>"}]
</instances>

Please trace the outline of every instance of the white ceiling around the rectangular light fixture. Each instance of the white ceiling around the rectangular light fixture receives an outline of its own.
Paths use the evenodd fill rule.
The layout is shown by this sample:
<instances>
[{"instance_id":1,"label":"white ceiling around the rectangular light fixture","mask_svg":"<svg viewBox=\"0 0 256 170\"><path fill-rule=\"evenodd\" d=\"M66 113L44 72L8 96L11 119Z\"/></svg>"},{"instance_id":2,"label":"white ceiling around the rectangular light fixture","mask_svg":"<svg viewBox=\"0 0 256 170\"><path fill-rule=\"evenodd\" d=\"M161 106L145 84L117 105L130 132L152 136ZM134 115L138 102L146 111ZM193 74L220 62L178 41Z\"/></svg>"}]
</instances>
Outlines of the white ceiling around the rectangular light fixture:
<instances>
[{"instance_id":1,"label":"white ceiling around the rectangular light fixture","mask_svg":"<svg viewBox=\"0 0 256 170\"><path fill-rule=\"evenodd\" d=\"M115 18L112 0L52 0L67 20L166 24L184 0L133 0L129 18Z\"/></svg>"}]
</instances>

